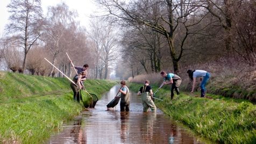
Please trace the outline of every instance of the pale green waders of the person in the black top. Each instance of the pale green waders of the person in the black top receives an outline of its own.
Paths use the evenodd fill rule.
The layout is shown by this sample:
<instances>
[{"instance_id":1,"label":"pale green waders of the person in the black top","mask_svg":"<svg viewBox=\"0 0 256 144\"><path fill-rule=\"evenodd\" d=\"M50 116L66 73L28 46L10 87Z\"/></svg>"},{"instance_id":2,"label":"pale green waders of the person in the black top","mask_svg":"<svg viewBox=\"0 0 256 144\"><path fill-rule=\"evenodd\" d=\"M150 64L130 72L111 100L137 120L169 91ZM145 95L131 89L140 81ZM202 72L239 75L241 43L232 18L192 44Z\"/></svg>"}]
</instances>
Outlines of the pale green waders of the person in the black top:
<instances>
[{"instance_id":1,"label":"pale green waders of the person in the black top","mask_svg":"<svg viewBox=\"0 0 256 144\"><path fill-rule=\"evenodd\" d=\"M143 112L147 112L148 107L150 107L152 112L157 111L157 107L155 106L155 104L150 96L150 92L141 93L141 99L142 99L142 104L143 104Z\"/></svg>"}]
</instances>

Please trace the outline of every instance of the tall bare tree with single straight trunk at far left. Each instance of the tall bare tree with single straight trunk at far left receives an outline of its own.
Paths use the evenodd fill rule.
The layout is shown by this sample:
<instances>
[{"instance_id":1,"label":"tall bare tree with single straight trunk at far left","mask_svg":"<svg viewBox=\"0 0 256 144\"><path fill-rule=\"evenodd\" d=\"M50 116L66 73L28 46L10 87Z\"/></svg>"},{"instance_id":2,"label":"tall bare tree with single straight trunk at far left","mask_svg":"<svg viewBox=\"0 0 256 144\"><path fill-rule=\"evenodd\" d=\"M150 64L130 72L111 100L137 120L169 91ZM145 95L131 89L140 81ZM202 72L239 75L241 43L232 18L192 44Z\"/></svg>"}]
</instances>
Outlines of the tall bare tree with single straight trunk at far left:
<instances>
[{"instance_id":1,"label":"tall bare tree with single straight trunk at far left","mask_svg":"<svg viewBox=\"0 0 256 144\"><path fill-rule=\"evenodd\" d=\"M19 38L18 47L23 48L24 60L22 73L26 68L27 53L30 48L36 45L36 41L41 36L40 27L42 24L42 9L40 0L11 0L7 6L11 16L11 23L7 30L17 35Z\"/></svg>"}]
</instances>

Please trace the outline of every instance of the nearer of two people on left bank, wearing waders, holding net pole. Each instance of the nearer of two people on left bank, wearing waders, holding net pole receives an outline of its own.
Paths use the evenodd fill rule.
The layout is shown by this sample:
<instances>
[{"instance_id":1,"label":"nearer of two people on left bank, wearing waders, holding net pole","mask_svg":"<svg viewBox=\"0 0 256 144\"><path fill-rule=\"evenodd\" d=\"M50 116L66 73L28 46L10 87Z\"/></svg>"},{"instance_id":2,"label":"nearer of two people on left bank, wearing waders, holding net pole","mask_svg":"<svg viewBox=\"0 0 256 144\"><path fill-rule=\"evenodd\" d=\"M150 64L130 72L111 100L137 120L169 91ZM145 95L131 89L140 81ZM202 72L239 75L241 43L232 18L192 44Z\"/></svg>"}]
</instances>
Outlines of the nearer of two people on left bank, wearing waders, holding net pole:
<instances>
[{"instance_id":1,"label":"nearer of two people on left bank, wearing waders, holding net pole","mask_svg":"<svg viewBox=\"0 0 256 144\"><path fill-rule=\"evenodd\" d=\"M82 71L80 74L76 75L73 78L73 82L74 83L70 83L70 87L72 88L73 92L74 92L74 100L76 100L78 103L80 103L80 90L82 89L82 85L81 85L81 79L83 76L85 76L86 73L85 71Z\"/></svg>"}]
</instances>

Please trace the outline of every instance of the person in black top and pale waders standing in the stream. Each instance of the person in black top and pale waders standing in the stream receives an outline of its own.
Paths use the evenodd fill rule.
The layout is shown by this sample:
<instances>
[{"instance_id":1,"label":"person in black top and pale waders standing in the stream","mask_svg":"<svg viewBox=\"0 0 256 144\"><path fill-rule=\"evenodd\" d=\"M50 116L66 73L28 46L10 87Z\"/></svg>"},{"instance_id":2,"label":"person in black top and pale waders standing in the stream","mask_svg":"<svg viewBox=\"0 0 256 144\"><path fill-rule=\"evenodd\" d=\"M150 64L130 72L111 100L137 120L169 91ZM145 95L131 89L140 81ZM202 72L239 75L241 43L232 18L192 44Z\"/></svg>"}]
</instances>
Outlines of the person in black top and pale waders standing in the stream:
<instances>
[{"instance_id":1,"label":"person in black top and pale waders standing in the stream","mask_svg":"<svg viewBox=\"0 0 256 144\"><path fill-rule=\"evenodd\" d=\"M148 107L150 107L152 112L157 111L157 107L155 106L152 100L153 91L150 86L150 81L148 80L145 81L145 85L143 87L140 87L137 95L141 95L143 112L147 112Z\"/></svg>"}]
</instances>

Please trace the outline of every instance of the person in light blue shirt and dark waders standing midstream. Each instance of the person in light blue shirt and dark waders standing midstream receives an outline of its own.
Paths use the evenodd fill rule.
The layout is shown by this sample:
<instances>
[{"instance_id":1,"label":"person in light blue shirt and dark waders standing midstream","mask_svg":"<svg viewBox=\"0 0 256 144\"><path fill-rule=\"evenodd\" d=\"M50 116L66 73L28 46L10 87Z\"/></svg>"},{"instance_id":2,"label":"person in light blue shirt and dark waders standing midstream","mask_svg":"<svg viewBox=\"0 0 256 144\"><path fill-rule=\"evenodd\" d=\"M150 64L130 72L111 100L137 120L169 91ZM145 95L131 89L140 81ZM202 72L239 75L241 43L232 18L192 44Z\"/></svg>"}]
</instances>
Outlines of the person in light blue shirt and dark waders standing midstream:
<instances>
[{"instance_id":1,"label":"person in light blue shirt and dark waders standing midstream","mask_svg":"<svg viewBox=\"0 0 256 144\"><path fill-rule=\"evenodd\" d=\"M121 81L121 89L119 92L121 92L121 102L120 102L120 111L130 111L130 93L129 89L126 87L125 81ZM117 96L118 97L118 96Z\"/></svg>"}]
</instances>

